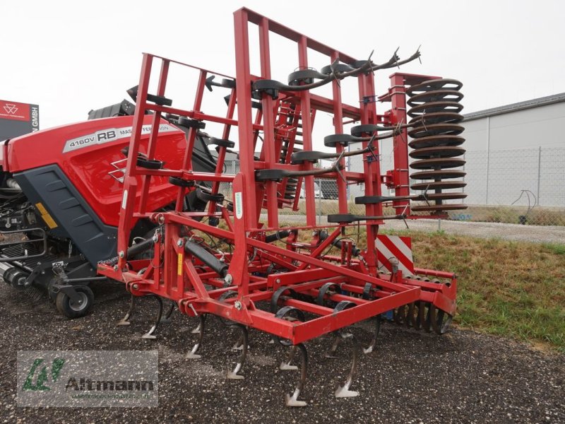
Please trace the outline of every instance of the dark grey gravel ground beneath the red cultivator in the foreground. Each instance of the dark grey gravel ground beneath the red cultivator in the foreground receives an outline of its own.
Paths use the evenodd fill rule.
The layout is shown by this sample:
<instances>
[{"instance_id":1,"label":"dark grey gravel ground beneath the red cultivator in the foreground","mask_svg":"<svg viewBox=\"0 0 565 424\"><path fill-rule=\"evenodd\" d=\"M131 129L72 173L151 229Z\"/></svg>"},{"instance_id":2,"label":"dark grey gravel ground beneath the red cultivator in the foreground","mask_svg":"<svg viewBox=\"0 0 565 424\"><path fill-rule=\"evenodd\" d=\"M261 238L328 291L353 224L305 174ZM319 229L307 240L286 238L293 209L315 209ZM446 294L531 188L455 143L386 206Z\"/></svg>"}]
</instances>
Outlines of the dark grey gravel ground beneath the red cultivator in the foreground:
<instances>
[{"instance_id":1,"label":"dark grey gravel ground beneath the red cultivator in the foreground","mask_svg":"<svg viewBox=\"0 0 565 424\"><path fill-rule=\"evenodd\" d=\"M69 321L44 300L31 300L3 285L0 290L0 423L565 423L565 355L535 351L521 343L453 329L444 336L383 325L379 348L363 355L350 399L333 391L350 367L350 347L325 359L326 336L307 343L306 408L286 408L297 371L280 371L285 348L250 331L245 379L227 380L237 353L237 334L208 319L200 360L184 355L194 343L195 319L175 312L142 340L155 301L139 302L129 327L115 323L127 309L121 285L94 286L97 302L87 317ZM352 328L362 343L364 323ZM158 408L19 408L16 406L18 350L159 351Z\"/></svg>"}]
</instances>

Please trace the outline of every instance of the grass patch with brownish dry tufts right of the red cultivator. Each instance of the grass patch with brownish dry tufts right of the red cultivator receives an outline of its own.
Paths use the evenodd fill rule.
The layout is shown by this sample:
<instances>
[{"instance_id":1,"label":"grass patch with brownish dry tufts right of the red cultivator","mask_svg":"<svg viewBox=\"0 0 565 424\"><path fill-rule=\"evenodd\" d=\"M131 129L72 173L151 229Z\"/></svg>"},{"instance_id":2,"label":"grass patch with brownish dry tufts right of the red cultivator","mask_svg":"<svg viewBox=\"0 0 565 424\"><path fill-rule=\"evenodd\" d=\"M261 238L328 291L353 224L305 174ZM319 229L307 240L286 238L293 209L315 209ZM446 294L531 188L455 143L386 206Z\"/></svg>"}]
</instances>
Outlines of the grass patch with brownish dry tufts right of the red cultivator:
<instances>
[{"instance_id":1,"label":"grass patch with brownish dry tufts right of the red cultivator","mask_svg":"<svg viewBox=\"0 0 565 424\"><path fill-rule=\"evenodd\" d=\"M416 266L458 275L460 326L565 353L565 245L410 235Z\"/></svg>"}]
</instances>

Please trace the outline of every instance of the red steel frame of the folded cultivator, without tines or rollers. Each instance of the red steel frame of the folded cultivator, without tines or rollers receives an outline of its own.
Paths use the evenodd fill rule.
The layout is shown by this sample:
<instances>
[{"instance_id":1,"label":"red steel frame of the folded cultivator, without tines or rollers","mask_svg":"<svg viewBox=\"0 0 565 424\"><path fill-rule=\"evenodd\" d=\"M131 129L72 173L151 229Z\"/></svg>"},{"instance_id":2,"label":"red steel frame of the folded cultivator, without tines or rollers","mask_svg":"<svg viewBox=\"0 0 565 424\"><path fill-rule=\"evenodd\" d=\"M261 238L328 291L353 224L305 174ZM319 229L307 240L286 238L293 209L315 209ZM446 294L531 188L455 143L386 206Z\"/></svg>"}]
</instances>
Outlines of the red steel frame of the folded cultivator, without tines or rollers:
<instances>
[{"instance_id":1,"label":"red steel frame of the folded cultivator, without tines or rollers","mask_svg":"<svg viewBox=\"0 0 565 424\"><path fill-rule=\"evenodd\" d=\"M362 101L359 106L347 105L342 101L341 87L338 81L333 81L332 98L325 98L309 90L299 93L285 93L281 91L278 99L263 93L261 109L251 107L251 84L259 79L271 78L270 69L270 35L275 33L297 45L297 66L309 66L308 50L314 50L328 57L328 63L339 59L345 64L353 64L355 59L327 47L305 35L299 34L290 28L269 20L253 11L242 8L234 13L235 25L235 50L236 50L236 88L232 88L230 101L227 105L225 116L216 116L201 112L203 95L205 92L206 78L212 73L206 69L195 68L178 61L165 59L153 54L143 54L141 77L139 81L136 115L133 121L133 132L129 148L125 178L124 199L119 218L118 251L119 261L115 266L101 264L99 272L126 284L127 290L132 295L154 294L169 298L177 302L179 310L189 316L196 314L216 314L220 317L231 319L234 322L245 324L256 329L261 329L275 336L288 339L297 344L307 341L321 334L326 334L369 317L375 317L383 312L402 307L411 302L422 300L430 302L439 309L453 315L456 309L456 276L453 273L417 269L416 273L441 278L441 282L417 281L405 278L399 271L395 274L381 273L377 266L375 239L381 220L369 220L364 225L367 228L367 248L362 252L362 257L352 259L347 254L350 245L345 242L342 255L328 256L323 254L326 248L340 236L345 224L328 225L328 237L320 241L319 231L322 227L316 226L316 204L314 202L314 178L303 178L306 201L306 225L290 228L292 234L286 247L279 247L266 242L268 232L280 230L278 223L279 208L285 206L284 199L280 199L280 188L286 182L256 181L256 170L285 169L285 170L311 170L311 163L291 165L288 158L292 153L292 137L285 139L288 142L287 155L284 163L280 161L281 136L283 131L281 122L285 122L285 131L297 131L297 116L302 119L302 143L304 150L313 150L311 138L312 125L316 111L329 112L334 117L335 134L343 133L343 122L355 121L361 124L396 124L405 122L405 97L403 95L406 83L423 81L429 76L407 76L396 73L391 77L391 90L388 95L381 96L381 100L390 100L392 109L386 114L376 113L374 101ZM259 52L261 59L261 75L251 75L249 66L249 27L256 25L259 35ZM167 86L169 66L189 66L199 72L198 86L194 107L192 110L181 110L175 107L162 106L148 101L148 87L151 69L154 64L160 64L160 73L157 81L156 95L164 96ZM230 78L227 77L226 78ZM360 73L354 78L358 79L359 99L375 99L374 75ZM232 78L233 79L233 78ZM292 105L295 107L295 116L290 122L280 117L281 107ZM237 120L234 112L237 109ZM239 166L237 175L222 172L225 159L225 148L218 151L218 167L213 173L193 172L191 169L191 151L194 146L197 129L189 130L186 153L181 169L148 170L136 165L136 156L140 152L141 126L143 124L143 111L153 111L153 129L150 134L147 151L143 152L149 158L153 157L156 143L158 142L158 122L162 114L178 114L189 119L201 122L216 122L224 126L222 138L230 136L230 130L237 126L239 134ZM263 132L261 157L254 158L258 132ZM283 137L284 138L284 137ZM364 183L367 196L381 194L381 184L390 182L391 178L396 184L396 194L409 194L408 191L408 146L406 134L397 136L395 143L395 167L398 168L392 177L381 175L379 162L369 160L369 153L364 155L363 172L343 171L344 181L337 172L330 172L323 177L333 178L338 186L339 212L347 213L347 184ZM363 148L367 142L363 143ZM343 146L338 144L337 153L343 151ZM378 151L376 151L378 154ZM343 162L343 159L342 159ZM187 181L210 182L212 191L217 192L220 182L232 183L234 193L233 209L231 212L224 205L211 204L206 212L183 212L182 200L186 188L179 187L177 206L174 211L155 213L147 210L148 187L150 180L155 176L180 177ZM138 179L141 177L141 179ZM297 184L298 197L302 179ZM141 183L139 183L141 181ZM141 193L141 199L136 201L136 194ZM396 202L397 211L405 211L406 202ZM286 205L288 206L288 205ZM291 206L296 206L294 202ZM262 209L266 209L267 222L260 222ZM367 216L380 216L382 204L367 205ZM194 218L201 216L214 216L220 218L227 229L217 228L208 223ZM158 225L155 232L154 257L150 260L132 260L127 258L130 230L135 220L148 218ZM285 228L286 230L288 228ZM296 235L301 230L314 231L310 245L297 243ZM234 245L232 254L222 255L222 259L229 264L227 278L220 278L206 264L198 258L185 252L183 244L187 237L194 236L196 232L206 232L211 237L227 240ZM345 252L345 253L344 253ZM217 255L220 258L220 254ZM275 264L283 272L269 273L268 266ZM275 317L272 312L258 309L256 303L270 300L273 293L281 287L289 287L295 292L311 295L314 298L325 283L333 282L341 285L342 294L328 295L328 299L339 302L347 300L355 304L340 312L315 303L298 300L296 298L281 298L279 305L290 305L300 310L315 314L316 318L306 322L291 322ZM447 282L447 283L446 283ZM369 283L371 290L369 296L362 296L364 288ZM226 285L229 285L226 287ZM206 288L208 286L208 289ZM210 290L209 287L212 287ZM220 296L228 290L237 291L237 295L225 300Z\"/></svg>"}]
</instances>

